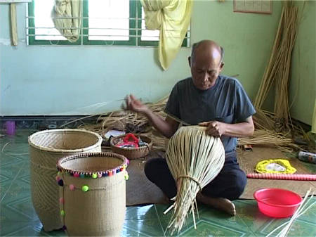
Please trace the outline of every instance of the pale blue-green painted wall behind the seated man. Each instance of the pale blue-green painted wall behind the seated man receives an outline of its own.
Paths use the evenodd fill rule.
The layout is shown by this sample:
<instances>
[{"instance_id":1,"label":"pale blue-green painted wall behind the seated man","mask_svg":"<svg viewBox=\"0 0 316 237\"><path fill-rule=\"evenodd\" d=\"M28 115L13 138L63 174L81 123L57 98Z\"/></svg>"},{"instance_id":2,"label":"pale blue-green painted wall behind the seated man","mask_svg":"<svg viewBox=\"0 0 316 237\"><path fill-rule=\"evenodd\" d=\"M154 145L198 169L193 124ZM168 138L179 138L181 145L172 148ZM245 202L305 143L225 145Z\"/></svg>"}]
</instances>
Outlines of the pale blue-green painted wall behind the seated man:
<instances>
[{"instance_id":1,"label":"pale blue-green painted wall behind the seated man","mask_svg":"<svg viewBox=\"0 0 316 237\"><path fill-rule=\"evenodd\" d=\"M239 74L254 98L270 57L281 4L272 15L233 13L232 1L195 1L192 41L214 39L225 48L227 75ZM180 49L169 70L157 63L156 49L112 46L27 46L25 4L18 4L19 45L9 41L8 5L0 6L0 115L88 115L119 108L133 93L157 101L190 76ZM97 110L82 108L111 102Z\"/></svg>"}]
</instances>

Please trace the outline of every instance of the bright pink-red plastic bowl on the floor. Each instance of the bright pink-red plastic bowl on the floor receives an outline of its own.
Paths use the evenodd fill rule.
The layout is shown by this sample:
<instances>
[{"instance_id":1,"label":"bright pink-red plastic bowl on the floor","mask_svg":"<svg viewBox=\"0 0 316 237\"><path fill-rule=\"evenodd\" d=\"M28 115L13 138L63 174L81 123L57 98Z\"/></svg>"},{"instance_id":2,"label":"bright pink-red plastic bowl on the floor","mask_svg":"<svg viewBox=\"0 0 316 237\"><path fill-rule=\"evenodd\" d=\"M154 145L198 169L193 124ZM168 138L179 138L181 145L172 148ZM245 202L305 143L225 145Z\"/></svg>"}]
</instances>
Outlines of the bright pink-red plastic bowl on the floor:
<instances>
[{"instance_id":1,"label":"bright pink-red plastic bowl on the floor","mask_svg":"<svg viewBox=\"0 0 316 237\"><path fill-rule=\"evenodd\" d=\"M297 193L279 188L260 189L254 193L254 198L263 214L276 218L291 217L303 201Z\"/></svg>"}]
</instances>

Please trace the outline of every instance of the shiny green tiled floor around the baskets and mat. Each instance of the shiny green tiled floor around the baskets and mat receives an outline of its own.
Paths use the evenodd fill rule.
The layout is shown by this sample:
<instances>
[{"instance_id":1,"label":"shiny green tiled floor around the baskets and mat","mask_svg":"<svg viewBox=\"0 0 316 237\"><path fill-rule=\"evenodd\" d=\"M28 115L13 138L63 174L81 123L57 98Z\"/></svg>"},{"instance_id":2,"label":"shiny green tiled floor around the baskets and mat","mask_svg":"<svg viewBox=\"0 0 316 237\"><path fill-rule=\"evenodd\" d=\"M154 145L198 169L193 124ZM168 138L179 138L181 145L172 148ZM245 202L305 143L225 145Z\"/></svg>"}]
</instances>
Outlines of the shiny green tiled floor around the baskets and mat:
<instances>
[{"instance_id":1,"label":"shiny green tiled floor around the baskets and mat","mask_svg":"<svg viewBox=\"0 0 316 237\"><path fill-rule=\"evenodd\" d=\"M32 206L29 190L27 136L34 131L18 131L0 140L0 236L66 236L63 231L46 232ZM316 200L316 198L314 198ZM199 207L197 230L192 219L180 236L266 236L287 219L272 219L259 212L254 200L237 200L237 216L206 206ZM170 214L162 214L166 205L128 207L121 236L170 236L166 231ZM289 236L316 236L316 205L298 218Z\"/></svg>"}]
</instances>

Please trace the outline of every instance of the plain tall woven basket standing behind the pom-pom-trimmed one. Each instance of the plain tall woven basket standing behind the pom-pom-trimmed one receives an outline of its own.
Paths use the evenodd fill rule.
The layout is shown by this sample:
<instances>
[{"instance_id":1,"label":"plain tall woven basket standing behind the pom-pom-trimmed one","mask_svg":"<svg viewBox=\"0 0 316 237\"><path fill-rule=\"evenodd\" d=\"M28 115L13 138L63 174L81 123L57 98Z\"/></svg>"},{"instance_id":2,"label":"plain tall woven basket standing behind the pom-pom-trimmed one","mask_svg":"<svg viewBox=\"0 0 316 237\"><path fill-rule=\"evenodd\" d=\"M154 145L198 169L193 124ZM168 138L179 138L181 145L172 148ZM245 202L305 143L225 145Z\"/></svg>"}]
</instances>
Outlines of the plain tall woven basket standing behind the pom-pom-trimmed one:
<instances>
[{"instance_id":1,"label":"plain tall woven basket standing behind the pom-pom-trimmed one","mask_svg":"<svg viewBox=\"0 0 316 237\"><path fill-rule=\"evenodd\" d=\"M79 129L53 129L29 136L32 203L45 231L62 228L56 163L68 155L100 152L101 143L100 135Z\"/></svg>"}]
</instances>

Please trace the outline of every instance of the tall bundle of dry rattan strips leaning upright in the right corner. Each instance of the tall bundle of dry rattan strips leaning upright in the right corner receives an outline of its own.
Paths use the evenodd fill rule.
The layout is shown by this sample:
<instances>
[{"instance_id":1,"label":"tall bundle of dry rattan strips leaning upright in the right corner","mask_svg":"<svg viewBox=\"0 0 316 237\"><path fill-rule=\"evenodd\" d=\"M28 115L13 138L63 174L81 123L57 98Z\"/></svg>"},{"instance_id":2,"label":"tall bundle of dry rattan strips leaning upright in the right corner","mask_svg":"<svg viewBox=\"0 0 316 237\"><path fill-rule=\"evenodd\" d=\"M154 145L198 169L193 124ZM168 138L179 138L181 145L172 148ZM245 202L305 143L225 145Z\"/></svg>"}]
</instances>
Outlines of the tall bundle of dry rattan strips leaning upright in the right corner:
<instances>
[{"instance_id":1,"label":"tall bundle of dry rattan strips leaning upright in the right corner","mask_svg":"<svg viewBox=\"0 0 316 237\"><path fill-rule=\"evenodd\" d=\"M290 129L288 87L291 72L291 53L294 49L297 31L298 7L294 6L294 1L284 1L270 60L254 100L256 109L260 110L272 84L275 84L273 127L270 122L268 122L268 126L276 131L289 131ZM268 118L264 118L265 115L265 113L261 114L261 119L268 120Z\"/></svg>"}]
</instances>

